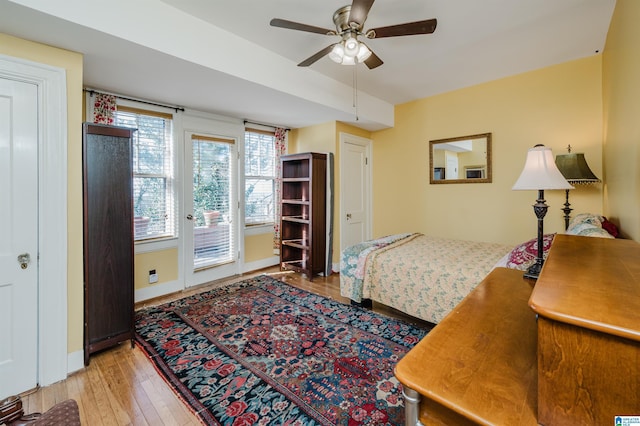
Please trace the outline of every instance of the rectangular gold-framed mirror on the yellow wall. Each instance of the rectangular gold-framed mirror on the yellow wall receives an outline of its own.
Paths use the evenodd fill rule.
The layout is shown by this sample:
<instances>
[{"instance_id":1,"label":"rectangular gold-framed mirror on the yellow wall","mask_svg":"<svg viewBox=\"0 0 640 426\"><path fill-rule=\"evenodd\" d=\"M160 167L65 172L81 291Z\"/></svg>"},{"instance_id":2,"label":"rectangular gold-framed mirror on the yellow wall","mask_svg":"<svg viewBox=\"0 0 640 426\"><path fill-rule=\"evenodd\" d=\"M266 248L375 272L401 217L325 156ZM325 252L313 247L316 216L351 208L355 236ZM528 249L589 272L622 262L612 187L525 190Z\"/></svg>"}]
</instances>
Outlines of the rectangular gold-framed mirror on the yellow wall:
<instances>
[{"instance_id":1,"label":"rectangular gold-framed mirror on the yellow wall","mask_svg":"<svg viewBox=\"0 0 640 426\"><path fill-rule=\"evenodd\" d=\"M429 183L491 182L491 133L429 141Z\"/></svg>"}]
</instances>

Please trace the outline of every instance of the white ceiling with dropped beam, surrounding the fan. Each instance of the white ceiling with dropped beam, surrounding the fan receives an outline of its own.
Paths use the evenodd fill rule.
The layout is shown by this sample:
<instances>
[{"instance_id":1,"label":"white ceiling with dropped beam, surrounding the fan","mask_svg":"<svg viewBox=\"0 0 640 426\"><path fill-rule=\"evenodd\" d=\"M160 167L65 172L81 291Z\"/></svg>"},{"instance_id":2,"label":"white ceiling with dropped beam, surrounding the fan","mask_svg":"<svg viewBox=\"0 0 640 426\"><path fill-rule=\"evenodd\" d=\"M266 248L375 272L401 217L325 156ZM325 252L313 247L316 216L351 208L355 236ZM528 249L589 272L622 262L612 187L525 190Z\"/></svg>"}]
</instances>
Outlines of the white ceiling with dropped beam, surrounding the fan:
<instances>
[{"instance_id":1,"label":"white ceiling with dropped beam, surrounding the fan","mask_svg":"<svg viewBox=\"0 0 640 426\"><path fill-rule=\"evenodd\" d=\"M335 36L348 0L0 0L0 32L80 52L88 87L234 118L377 130L393 105L602 52L615 0L377 0L365 30L436 18L433 34L368 40L384 61L296 64Z\"/></svg>"}]
</instances>

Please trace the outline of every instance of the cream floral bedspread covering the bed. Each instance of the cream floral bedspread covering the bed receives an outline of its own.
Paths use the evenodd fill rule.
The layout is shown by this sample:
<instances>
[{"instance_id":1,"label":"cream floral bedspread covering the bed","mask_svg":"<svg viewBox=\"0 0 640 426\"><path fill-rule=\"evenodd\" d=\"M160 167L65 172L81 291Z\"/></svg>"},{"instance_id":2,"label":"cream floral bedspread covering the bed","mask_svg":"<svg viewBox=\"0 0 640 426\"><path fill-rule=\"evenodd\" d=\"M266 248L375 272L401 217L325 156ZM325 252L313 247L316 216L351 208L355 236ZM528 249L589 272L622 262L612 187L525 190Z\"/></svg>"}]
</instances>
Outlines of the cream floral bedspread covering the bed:
<instances>
[{"instance_id":1,"label":"cream floral bedspread covering the bed","mask_svg":"<svg viewBox=\"0 0 640 426\"><path fill-rule=\"evenodd\" d=\"M357 272L362 274L358 280L349 273L343 278L341 268L341 294L354 301L369 298L437 324L513 248L422 234L411 236L369 250L363 271ZM351 265L353 269L360 262L356 251L345 250L341 265ZM355 257L349 259L351 255Z\"/></svg>"}]
</instances>

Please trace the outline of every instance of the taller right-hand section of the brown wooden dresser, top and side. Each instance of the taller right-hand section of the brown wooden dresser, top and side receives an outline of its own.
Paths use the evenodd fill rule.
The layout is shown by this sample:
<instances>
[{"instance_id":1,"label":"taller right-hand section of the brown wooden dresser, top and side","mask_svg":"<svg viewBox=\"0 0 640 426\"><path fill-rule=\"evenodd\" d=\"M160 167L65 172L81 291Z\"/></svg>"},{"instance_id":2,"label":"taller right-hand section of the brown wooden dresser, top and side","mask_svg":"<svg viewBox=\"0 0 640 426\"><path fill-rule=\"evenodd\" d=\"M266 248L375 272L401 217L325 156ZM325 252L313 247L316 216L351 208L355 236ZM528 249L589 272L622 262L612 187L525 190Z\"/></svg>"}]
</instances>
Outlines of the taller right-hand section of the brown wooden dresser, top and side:
<instances>
[{"instance_id":1,"label":"taller right-hand section of the brown wooden dresser, top and side","mask_svg":"<svg viewBox=\"0 0 640 426\"><path fill-rule=\"evenodd\" d=\"M640 245L557 235L529 304L538 314L538 422L640 415Z\"/></svg>"}]
</instances>

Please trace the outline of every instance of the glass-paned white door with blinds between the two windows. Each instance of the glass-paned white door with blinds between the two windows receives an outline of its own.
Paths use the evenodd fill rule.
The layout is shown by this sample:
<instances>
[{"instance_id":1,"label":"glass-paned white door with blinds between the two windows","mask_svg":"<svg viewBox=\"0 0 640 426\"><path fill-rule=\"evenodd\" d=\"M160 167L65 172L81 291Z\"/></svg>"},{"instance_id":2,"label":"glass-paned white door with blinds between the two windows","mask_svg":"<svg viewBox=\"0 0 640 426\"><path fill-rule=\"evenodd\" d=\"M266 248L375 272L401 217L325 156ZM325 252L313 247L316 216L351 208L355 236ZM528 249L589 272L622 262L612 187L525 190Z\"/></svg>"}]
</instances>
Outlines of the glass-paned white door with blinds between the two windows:
<instances>
[{"instance_id":1,"label":"glass-paned white door with blinds between the two windows","mask_svg":"<svg viewBox=\"0 0 640 426\"><path fill-rule=\"evenodd\" d=\"M237 158L234 138L186 134L187 286L238 273Z\"/></svg>"}]
</instances>

